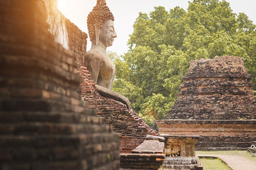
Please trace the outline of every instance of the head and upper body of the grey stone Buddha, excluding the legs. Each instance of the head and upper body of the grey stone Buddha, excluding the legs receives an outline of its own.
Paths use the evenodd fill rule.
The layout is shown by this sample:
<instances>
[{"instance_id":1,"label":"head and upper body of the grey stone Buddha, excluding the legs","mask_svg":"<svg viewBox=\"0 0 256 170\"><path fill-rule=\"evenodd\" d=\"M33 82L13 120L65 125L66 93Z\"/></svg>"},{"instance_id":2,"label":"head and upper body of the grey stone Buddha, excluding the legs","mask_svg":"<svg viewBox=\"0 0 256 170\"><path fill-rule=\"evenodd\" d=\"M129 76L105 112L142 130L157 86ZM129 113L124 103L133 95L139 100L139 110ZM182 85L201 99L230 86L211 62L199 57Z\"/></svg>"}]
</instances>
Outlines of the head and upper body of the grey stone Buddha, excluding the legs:
<instances>
[{"instance_id":1,"label":"head and upper body of the grey stone Buddha, excluding the legs","mask_svg":"<svg viewBox=\"0 0 256 170\"><path fill-rule=\"evenodd\" d=\"M112 88L115 75L115 66L106 54L106 48L112 46L117 37L113 21L114 16L106 6L106 0L97 0L87 19L92 48L85 54L84 65L94 83L108 89Z\"/></svg>"}]
</instances>

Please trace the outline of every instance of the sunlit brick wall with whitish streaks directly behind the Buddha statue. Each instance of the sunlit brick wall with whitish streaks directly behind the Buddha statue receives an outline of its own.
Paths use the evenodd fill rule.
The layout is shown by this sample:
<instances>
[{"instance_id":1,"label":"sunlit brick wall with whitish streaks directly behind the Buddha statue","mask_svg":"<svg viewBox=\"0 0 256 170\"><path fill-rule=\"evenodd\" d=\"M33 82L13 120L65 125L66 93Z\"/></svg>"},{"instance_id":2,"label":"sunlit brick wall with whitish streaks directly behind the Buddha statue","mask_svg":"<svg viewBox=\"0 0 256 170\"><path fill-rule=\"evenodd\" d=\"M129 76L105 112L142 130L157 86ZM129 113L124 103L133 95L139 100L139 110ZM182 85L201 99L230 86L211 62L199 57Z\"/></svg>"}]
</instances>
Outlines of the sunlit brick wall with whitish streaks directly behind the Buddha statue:
<instances>
[{"instance_id":1,"label":"sunlit brick wall with whitish streaks directly behind the Buddha statue","mask_svg":"<svg viewBox=\"0 0 256 170\"><path fill-rule=\"evenodd\" d=\"M57 0L38 0L38 2L47 12L49 31L55 36L55 41L70 50L76 56L77 63L82 65L86 53L87 34L59 11Z\"/></svg>"}]
</instances>

